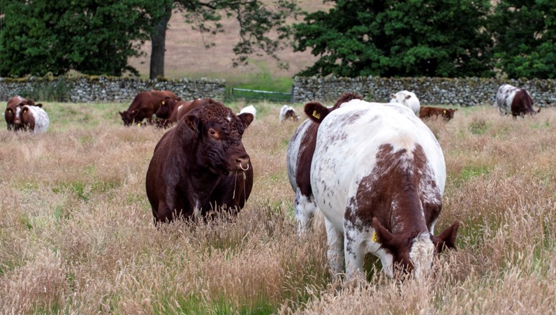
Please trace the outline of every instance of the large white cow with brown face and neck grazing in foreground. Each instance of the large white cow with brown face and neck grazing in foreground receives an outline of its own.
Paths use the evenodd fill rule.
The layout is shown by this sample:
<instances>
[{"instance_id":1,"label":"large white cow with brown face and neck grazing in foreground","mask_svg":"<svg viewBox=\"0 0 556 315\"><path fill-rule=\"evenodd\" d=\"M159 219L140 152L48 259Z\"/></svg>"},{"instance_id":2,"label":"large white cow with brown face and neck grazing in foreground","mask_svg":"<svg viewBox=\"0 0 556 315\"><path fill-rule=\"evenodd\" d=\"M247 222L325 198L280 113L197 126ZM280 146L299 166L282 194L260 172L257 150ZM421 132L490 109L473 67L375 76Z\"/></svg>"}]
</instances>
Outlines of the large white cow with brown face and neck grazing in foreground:
<instances>
[{"instance_id":1,"label":"large white cow with brown face and neck grazing in foreground","mask_svg":"<svg viewBox=\"0 0 556 315\"><path fill-rule=\"evenodd\" d=\"M455 247L459 221L434 235L446 183L444 154L427 126L397 103L352 100L330 111L309 103L320 123L311 187L323 212L328 261L351 279L370 252L383 270L424 277L434 256ZM395 268L396 267L396 268Z\"/></svg>"}]
</instances>

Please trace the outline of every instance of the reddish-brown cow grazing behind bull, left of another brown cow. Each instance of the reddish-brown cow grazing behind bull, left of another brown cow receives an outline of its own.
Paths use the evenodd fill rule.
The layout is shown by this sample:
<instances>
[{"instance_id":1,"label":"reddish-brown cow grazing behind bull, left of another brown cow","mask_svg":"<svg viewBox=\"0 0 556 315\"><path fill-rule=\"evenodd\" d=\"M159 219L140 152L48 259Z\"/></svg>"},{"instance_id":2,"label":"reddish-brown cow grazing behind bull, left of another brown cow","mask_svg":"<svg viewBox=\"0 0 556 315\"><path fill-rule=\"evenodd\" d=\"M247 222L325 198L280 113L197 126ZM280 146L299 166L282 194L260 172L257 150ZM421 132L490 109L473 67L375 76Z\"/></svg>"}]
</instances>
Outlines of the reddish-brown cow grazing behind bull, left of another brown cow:
<instances>
[{"instance_id":1,"label":"reddish-brown cow grazing behind bull, left of another brown cow","mask_svg":"<svg viewBox=\"0 0 556 315\"><path fill-rule=\"evenodd\" d=\"M129 108L124 112L119 112L124 121L124 126L131 126L131 124L141 124L142 120L147 118L149 124L152 124L152 115L159 109L161 101L168 96L173 100L179 101L181 98L177 97L171 91L144 91L137 94Z\"/></svg>"}]
</instances>

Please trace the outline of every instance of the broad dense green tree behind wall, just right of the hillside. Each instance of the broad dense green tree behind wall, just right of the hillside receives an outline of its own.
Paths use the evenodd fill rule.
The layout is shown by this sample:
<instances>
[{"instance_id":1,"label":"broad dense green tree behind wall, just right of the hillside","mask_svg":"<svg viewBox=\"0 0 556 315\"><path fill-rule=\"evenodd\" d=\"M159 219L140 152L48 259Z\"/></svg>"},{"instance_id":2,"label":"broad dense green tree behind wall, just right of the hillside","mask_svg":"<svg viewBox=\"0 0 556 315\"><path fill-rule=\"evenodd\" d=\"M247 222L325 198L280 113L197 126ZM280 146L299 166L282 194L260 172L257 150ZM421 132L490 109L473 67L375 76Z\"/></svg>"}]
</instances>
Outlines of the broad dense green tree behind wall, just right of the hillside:
<instances>
[{"instance_id":1,"label":"broad dense green tree behind wall, just right of the hillside","mask_svg":"<svg viewBox=\"0 0 556 315\"><path fill-rule=\"evenodd\" d=\"M295 51L319 56L300 75L492 76L486 0L337 0L294 25Z\"/></svg>"}]
</instances>

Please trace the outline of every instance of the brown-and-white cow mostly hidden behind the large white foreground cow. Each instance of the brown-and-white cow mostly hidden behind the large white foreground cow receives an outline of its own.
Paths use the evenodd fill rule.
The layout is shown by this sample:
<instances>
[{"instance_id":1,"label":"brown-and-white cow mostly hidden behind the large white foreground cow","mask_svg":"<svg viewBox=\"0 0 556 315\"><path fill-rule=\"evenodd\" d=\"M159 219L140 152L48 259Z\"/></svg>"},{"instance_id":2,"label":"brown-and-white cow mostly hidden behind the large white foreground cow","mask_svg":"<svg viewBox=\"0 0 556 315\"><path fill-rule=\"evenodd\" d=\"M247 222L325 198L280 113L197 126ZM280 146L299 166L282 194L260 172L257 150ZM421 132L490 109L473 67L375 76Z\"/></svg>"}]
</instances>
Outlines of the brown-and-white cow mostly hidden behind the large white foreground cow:
<instances>
[{"instance_id":1,"label":"brown-and-white cow mostly hidden behind the large white foreground cow","mask_svg":"<svg viewBox=\"0 0 556 315\"><path fill-rule=\"evenodd\" d=\"M362 100L363 98L358 94L345 93L330 110L335 110L342 103L352 99ZM311 162L318 129L319 124L311 119L302 122L291 136L286 153L288 179L295 193L294 212L298 235L307 232L310 220L319 213L311 189Z\"/></svg>"}]
</instances>

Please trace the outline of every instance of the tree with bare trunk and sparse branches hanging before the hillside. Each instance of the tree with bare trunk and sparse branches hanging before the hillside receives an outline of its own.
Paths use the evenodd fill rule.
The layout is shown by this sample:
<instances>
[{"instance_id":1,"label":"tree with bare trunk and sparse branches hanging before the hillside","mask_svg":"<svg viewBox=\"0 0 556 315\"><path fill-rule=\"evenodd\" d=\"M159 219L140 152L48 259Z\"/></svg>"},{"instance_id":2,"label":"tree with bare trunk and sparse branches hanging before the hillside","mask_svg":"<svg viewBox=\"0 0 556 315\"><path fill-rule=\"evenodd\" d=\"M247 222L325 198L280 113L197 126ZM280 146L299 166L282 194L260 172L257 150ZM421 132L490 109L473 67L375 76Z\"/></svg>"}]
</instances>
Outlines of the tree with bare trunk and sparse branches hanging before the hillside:
<instances>
[{"instance_id":1,"label":"tree with bare trunk and sparse branches hanging before the hillside","mask_svg":"<svg viewBox=\"0 0 556 315\"><path fill-rule=\"evenodd\" d=\"M173 5L184 13L184 17L194 29L203 34L217 34L224 31L219 21L222 15L235 17L240 23L240 40L234 47L237 58L234 66L247 64L249 55L264 52L279 61L277 52L288 45L286 41L291 29L286 25L286 17L298 12L295 0L166 0L163 12L152 19L152 51L149 78L164 76L164 43L166 28ZM277 31L277 38L271 31ZM208 43L206 47L212 46ZM281 64L285 66L284 64Z\"/></svg>"}]
</instances>

